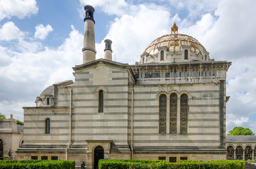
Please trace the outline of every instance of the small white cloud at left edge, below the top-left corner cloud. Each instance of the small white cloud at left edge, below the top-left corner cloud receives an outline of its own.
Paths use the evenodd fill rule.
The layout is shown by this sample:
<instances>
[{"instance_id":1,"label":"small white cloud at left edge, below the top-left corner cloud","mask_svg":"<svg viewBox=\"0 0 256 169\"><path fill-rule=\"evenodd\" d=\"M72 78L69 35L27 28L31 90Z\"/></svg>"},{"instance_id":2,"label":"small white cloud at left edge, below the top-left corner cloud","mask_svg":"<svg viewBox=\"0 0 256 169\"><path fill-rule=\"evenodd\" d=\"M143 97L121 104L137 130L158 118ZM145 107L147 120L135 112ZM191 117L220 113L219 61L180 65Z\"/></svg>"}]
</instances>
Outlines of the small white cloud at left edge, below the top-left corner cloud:
<instances>
[{"instance_id":1,"label":"small white cloud at left edge, below the top-left corner cloud","mask_svg":"<svg viewBox=\"0 0 256 169\"><path fill-rule=\"evenodd\" d=\"M21 40L24 34L13 22L6 22L0 29L0 40Z\"/></svg>"}]
</instances>

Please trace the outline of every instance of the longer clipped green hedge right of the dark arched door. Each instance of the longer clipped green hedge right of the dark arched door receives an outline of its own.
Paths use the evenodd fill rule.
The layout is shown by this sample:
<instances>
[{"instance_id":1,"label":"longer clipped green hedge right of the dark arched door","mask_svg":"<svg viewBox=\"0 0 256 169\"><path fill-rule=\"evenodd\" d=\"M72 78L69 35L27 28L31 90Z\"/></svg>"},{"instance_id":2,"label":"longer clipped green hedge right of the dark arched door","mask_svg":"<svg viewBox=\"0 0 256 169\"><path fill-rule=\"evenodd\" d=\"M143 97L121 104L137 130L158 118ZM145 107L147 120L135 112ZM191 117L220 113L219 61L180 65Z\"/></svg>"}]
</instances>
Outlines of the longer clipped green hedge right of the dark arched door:
<instances>
[{"instance_id":1,"label":"longer clipped green hedge right of the dark arched door","mask_svg":"<svg viewBox=\"0 0 256 169\"><path fill-rule=\"evenodd\" d=\"M99 169L245 169L243 160L99 160Z\"/></svg>"}]
</instances>

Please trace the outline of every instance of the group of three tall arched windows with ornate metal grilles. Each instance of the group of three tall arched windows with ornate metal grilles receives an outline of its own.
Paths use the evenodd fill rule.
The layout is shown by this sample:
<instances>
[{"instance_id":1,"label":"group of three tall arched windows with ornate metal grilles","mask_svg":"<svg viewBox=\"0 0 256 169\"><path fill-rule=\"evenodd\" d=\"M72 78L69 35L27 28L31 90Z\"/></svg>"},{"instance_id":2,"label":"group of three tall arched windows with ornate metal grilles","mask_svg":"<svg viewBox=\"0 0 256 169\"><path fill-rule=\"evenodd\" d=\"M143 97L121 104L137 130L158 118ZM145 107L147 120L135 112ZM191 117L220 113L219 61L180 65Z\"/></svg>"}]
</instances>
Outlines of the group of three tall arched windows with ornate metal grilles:
<instances>
[{"instance_id":1,"label":"group of three tall arched windows with ornate metal grilles","mask_svg":"<svg viewBox=\"0 0 256 169\"><path fill-rule=\"evenodd\" d=\"M169 112L167 112L167 106L170 107ZM182 94L178 99L178 96L176 93L171 93L169 103L167 103L167 96L165 94L161 94L159 96L159 133L167 133L167 130L166 130L167 116L170 118L170 123L169 123L170 133L177 133L177 132L187 133L187 120L188 120L187 114L188 114L187 94ZM180 119L179 123L177 123L178 119ZM179 126L177 126L177 124L179 124ZM179 130L177 130L177 128L179 128Z\"/></svg>"}]
</instances>

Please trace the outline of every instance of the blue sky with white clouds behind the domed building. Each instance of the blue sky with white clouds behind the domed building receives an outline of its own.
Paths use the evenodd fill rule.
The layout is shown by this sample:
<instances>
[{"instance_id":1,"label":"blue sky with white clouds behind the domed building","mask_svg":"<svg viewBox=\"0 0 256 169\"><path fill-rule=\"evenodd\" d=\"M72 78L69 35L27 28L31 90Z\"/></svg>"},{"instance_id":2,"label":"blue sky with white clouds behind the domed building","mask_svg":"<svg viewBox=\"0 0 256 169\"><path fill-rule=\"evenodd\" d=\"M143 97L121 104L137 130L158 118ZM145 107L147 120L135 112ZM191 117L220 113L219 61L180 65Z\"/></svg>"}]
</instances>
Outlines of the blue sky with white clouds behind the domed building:
<instances>
[{"instance_id":1,"label":"blue sky with white clouds behind the domed building","mask_svg":"<svg viewBox=\"0 0 256 169\"><path fill-rule=\"evenodd\" d=\"M23 121L22 107L48 86L73 80L82 64L85 5L94 7L96 59L105 39L113 61L134 65L146 47L171 33L197 39L227 71L226 133L256 133L255 0L0 0L0 113Z\"/></svg>"}]
</instances>

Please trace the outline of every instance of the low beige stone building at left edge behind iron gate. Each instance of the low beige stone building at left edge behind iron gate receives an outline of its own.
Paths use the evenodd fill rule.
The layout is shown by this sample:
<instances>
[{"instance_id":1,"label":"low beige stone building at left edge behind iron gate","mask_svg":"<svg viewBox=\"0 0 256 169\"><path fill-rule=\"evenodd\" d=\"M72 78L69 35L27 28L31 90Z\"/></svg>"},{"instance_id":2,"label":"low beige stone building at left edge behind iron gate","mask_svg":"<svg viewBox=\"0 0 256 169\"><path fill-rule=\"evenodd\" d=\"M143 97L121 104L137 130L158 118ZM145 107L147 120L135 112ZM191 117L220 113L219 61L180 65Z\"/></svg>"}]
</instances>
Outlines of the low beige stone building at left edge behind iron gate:
<instances>
[{"instance_id":1,"label":"low beige stone building at left edge behind iron gate","mask_svg":"<svg viewBox=\"0 0 256 169\"><path fill-rule=\"evenodd\" d=\"M16 159L15 151L22 143L23 126L17 124L13 115L10 119L0 119L0 160L3 160L3 155Z\"/></svg>"}]
</instances>

